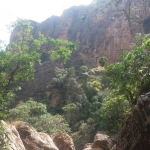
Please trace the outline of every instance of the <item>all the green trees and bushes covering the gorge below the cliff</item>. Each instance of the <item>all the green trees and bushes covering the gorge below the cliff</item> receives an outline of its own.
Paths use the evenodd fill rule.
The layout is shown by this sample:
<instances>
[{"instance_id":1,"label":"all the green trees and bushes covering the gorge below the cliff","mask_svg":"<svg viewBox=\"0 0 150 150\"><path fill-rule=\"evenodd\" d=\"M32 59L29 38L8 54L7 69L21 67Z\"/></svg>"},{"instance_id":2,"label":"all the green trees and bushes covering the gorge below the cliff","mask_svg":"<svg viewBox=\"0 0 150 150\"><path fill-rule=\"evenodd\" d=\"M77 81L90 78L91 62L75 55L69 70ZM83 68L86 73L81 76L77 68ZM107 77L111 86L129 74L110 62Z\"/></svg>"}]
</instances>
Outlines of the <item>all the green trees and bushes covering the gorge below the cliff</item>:
<instances>
[{"instance_id":1,"label":"all the green trees and bushes covering the gorge below the cliff","mask_svg":"<svg viewBox=\"0 0 150 150\"><path fill-rule=\"evenodd\" d=\"M116 0L111 2L116 4ZM115 6L117 10L119 4ZM132 15L127 15L130 23ZM49 91L58 93L55 105L52 97L47 97L41 99L42 103L28 100L9 110L15 91L21 88L14 84L34 79L34 64L40 63L41 46L50 44L52 50L48 53L64 63L76 46L73 42L45 38L41 33L33 38L32 27L25 20L17 21L15 30L17 41L6 50L3 45L0 47L1 119L26 121L49 134L68 132L80 149L98 131L117 133L137 98L150 90L150 35L138 34L131 51L123 51L117 63L108 65L107 58L101 57L98 68L56 67L51 84L47 85ZM133 33L131 29L130 32ZM0 133L3 131L0 127Z\"/></svg>"}]
</instances>

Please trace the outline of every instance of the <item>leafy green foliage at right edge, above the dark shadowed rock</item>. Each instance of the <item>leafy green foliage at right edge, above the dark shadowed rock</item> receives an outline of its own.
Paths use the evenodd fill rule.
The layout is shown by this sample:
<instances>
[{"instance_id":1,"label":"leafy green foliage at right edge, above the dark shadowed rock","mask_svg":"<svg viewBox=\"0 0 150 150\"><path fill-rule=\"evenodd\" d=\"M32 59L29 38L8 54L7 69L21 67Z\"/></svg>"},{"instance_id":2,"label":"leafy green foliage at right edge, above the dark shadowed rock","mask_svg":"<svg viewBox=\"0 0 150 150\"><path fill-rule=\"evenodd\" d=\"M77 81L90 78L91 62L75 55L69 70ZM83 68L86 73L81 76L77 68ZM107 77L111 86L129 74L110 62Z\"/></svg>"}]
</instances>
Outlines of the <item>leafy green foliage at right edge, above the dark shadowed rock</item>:
<instances>
[{"instance_id":1,"label":"leafy green foliage at right edge, above the dark shadowed rock","mask_svg":"<svg viewBox=\"0 0 150 150\"><path fill-rule=\"evenodd\" d=\"M112 86L135 103L150 90L150 35L137 36L132 51L123 52L121 58L122 62L108 66L107 75Z\"/></svg>"}]
</instances>

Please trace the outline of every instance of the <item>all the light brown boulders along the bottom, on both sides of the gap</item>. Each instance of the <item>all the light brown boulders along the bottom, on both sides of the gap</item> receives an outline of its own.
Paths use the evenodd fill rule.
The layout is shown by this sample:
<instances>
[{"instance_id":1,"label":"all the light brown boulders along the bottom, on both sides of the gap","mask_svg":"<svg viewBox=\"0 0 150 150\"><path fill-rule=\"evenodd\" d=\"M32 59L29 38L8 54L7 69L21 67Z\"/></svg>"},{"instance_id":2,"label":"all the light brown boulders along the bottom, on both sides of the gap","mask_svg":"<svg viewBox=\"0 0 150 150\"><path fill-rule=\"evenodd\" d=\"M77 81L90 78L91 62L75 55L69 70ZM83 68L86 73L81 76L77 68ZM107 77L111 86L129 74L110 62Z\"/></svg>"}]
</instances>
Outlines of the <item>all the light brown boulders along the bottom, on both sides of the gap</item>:
<instances>
[{"instance_id":1,"label":"all the light brown boulders along the bottom, on both sides of the gap","mask_svg":"<svg viewBox=\"0 0 150 150\"><path fill-rule=\"evenodd\" d=\"M60 132L51 137L46 133L37 132L25 122L1 123L6 130L4 137L8 143L8 150L75 150L73 140L67 133ZM110 150L114 145L114 138L98 133L93 143L85 144L83 150Z\"/></svg>"}]
</instances>

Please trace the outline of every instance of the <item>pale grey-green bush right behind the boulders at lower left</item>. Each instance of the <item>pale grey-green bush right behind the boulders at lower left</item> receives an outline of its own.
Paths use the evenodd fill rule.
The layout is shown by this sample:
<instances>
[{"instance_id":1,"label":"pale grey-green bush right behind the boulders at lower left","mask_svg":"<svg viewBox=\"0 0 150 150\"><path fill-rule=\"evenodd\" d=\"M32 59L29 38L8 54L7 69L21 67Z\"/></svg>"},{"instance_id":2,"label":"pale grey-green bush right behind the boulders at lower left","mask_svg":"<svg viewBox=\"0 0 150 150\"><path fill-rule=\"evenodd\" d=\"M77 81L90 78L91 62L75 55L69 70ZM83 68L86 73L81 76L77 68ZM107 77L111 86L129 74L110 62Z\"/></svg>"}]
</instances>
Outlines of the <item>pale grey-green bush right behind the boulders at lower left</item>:
<instances>
[{"instance_id":1,"label":"pale grey-green bush right behind the boulders at lower left","mask_svg":"<svg viewBox=\"0 0 150 150\"><path fill-rule=\"evenodd\" d=\"M51 115L46 105L29 100L20 103L16 108L10 109L9 118L13 121L24 121L31 124L38 131L49 134L57 132L70 132L68 124L61 115Z\"/></svg>"}]
</instances>

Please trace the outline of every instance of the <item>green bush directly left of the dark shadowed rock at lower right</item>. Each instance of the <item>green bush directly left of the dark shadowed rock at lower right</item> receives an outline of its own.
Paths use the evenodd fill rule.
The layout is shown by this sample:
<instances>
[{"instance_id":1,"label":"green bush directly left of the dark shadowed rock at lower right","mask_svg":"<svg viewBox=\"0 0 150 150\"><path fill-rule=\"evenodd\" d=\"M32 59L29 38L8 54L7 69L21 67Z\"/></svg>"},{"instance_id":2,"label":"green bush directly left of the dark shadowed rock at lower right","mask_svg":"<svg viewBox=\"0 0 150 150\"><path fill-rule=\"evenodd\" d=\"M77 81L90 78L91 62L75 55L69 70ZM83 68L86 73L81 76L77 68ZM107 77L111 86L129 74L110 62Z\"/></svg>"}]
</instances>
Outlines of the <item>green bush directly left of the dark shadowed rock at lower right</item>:
<instances>
[{"instance_id":1,"label":"green bush directly left of the dark shadowed rock at lower right","mask_svg":"<svg viewBox=\"0 0 150 150\"><path fill-rule=\"evenodd\" d=\"M107 94L100 109L100 129L116 133L129 111L129 102L116 92Z\"/></svg>"}]
</instances>

